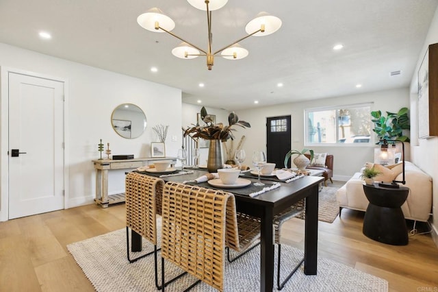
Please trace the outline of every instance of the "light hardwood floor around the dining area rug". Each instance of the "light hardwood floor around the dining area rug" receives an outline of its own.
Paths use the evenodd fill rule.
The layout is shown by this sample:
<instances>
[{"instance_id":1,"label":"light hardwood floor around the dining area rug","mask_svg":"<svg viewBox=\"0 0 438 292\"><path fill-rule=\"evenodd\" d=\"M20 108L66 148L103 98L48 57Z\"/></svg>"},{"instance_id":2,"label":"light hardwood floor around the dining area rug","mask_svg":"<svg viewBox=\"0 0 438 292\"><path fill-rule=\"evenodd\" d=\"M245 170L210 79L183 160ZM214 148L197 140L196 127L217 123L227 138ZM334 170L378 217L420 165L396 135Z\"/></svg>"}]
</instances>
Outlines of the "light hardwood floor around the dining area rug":
<instances>
[{"instance_id":1,"label":"light hardwood floor around the dining area rug","mask_svg":"<svg viewBox=\"0 0 438 292\"><path fill-rule=\"evenodd\" d=\"M318 226L318 256L385 278L389 291L438 291L438 248L430 234L385 245L362 234L363 212ZM0 291L94 291L68 243L125 228L125 205L88 205L0 222ZM285 243L303 246L304 221L283 225ZM105 256L104 254L102 256Z\"/></svg>"}]
</instances>

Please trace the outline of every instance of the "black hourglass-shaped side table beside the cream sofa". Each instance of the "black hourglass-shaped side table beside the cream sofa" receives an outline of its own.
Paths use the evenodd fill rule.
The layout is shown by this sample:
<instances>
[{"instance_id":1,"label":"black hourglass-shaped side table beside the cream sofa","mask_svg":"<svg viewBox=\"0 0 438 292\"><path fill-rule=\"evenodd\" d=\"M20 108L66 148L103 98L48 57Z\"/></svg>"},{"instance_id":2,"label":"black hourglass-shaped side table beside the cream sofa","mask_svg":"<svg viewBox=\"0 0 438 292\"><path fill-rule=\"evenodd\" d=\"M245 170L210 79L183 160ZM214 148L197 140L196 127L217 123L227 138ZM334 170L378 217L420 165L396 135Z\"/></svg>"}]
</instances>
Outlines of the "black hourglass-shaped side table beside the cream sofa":
<instances>
[{"instance_id":1,"label":"black hourglass-shaped side table beside the cream sofa","mask_svg":"<svg viewBox=\"0 0 438 292\"><path fill-rule=\"evenodd\" d=\"M409 188L386 188L374 184L363 184L368 204L363 219L362 232L370 239L390 245L407 245L408 228L402 212Z\"/></svg>"}]
</instances>

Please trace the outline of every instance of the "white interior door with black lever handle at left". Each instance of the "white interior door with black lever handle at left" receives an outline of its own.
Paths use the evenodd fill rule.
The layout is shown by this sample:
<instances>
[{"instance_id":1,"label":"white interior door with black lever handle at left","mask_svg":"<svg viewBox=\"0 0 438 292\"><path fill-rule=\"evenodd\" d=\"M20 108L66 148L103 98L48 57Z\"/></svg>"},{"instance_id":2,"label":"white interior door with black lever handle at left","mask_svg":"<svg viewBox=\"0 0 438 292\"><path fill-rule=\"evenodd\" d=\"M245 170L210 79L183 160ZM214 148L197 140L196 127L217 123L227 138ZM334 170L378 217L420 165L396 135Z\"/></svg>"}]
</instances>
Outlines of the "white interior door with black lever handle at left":
<instances>
[{"instance_id":1,"label":"white interior door with black lever handle at left","mask_svg":"<svg viewBox=\"0 0 438 292\"><path fill-rule=\"evenodd\" d=\"M64 82L8 77L9 219L63 209Z\"/></svg>"}]
</instances>

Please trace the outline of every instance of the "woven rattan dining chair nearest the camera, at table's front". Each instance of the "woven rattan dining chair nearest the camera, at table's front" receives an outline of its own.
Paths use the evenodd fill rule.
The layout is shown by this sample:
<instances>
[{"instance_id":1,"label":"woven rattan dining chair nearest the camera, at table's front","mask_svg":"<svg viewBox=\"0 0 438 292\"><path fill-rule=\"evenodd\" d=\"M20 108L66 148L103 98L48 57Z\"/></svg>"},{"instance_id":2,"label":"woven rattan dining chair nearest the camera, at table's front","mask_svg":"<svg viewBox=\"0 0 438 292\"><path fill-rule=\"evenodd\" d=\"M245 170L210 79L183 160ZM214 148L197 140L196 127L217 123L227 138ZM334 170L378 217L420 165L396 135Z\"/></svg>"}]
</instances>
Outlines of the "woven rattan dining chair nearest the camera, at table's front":
<instances>
[{"instance_id":1,"label":"woven rattan dining chair nearest the camera, at table's front","mask_svg":"<svg viewBox=\"0 0 438 292\"><path fill-rule=\"evenodd\" d=\"M163 191L162 282L166 259L198 278L188 289L203 281L223 291L226 245L240 248L234 195L168 182Z\"/></svg>"}]
</instances>

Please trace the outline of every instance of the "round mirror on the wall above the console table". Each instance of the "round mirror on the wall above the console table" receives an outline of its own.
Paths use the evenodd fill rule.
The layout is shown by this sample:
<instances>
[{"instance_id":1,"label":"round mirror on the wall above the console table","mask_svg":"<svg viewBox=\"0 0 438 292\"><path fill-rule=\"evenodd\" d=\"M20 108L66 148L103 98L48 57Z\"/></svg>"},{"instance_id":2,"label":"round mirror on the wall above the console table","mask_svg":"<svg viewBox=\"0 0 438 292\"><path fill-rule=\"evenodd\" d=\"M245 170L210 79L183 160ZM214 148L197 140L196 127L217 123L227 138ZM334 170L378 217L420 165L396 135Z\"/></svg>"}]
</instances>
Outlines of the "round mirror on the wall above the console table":
<instances>
[{"instance_id":1,"label":"round mirror on the wall above the console table","mask_svg":"<svg viewBox=\"0 0 438 292\"><path fill-rule=\"evenodd\" d=\"M135 104L120 104L112 112L111 125L123 138L137 138L146 129L146 115Z\"/></svg>"}]
</instances>

